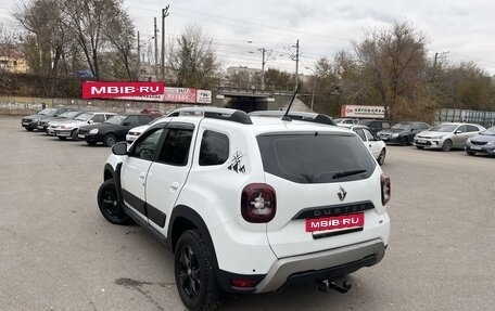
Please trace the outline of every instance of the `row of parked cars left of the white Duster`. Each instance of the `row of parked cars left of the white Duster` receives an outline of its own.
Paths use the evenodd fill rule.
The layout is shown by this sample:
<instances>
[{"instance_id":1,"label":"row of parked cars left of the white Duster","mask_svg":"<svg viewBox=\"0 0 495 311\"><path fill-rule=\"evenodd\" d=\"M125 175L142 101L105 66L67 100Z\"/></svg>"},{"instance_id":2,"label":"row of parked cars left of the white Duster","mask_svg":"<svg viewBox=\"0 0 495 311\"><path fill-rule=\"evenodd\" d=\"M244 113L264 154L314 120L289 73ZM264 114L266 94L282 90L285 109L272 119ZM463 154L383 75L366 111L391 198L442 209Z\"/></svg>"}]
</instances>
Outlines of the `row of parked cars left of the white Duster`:
<instances>
[{"instance_id":1,"label":"row of parked cars left of the white Duster","mask_svg":"<svg viewBox=\"0 0 495 311\"><path fill-rule=\"evenodd\" d=\"M110 112L74 111L69 108L46 108L22 119L28 130L45 131L60 140L85 140L88 144L103 143L112 146L126 140L130 129L150 124L157 115L126 114Z\"/></svg>"}]
</instances>

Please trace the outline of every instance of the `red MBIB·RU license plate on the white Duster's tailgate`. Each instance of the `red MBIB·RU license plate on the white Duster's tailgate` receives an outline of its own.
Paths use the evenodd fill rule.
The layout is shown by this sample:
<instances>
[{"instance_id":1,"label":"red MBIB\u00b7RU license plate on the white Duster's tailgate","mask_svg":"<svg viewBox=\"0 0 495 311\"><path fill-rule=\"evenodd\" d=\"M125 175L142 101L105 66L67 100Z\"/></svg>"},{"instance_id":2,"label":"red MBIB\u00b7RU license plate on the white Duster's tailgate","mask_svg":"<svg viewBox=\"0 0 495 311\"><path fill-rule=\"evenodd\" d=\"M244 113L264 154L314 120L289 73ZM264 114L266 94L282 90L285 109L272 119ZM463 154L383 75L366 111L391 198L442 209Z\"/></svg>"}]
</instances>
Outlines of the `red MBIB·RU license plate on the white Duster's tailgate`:
<instances>
[{"instance_id":1,"label":"red MBIB\u00b7RU license plate on the white Duster's tailgate","mask_svg":"<svg viewBox=\"0 0 495 311\"><path fill-rule=\"evenodd\" d=\"M306 232L331 231L363 226L365 226L364 212L306 219Z\"/></svg>"}]
</instances>

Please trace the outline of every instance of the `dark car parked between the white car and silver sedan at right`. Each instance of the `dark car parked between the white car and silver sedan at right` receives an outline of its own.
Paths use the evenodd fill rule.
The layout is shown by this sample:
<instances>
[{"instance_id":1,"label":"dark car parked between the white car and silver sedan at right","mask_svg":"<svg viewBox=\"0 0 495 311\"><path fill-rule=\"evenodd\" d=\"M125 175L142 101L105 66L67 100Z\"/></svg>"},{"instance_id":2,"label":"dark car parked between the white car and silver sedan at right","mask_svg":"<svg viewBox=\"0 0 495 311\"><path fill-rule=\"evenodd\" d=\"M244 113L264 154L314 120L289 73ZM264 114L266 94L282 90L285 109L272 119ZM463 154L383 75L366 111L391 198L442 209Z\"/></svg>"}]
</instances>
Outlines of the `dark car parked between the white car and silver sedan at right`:
<instances>
[{"instance_id":1,"label":"dark car parked between the white car and silver sedan at right","mask_svg":"<svg viewBox=\"0 0 495 311\"><path fill-rule=\"evenodd\" d=\"M398 122L390 129L379 131L377 137L385 143L394 143L405 146L412 144L417 133L427 131L430 128L431 126L426 122Z\"/></svg>"}]
</instances>

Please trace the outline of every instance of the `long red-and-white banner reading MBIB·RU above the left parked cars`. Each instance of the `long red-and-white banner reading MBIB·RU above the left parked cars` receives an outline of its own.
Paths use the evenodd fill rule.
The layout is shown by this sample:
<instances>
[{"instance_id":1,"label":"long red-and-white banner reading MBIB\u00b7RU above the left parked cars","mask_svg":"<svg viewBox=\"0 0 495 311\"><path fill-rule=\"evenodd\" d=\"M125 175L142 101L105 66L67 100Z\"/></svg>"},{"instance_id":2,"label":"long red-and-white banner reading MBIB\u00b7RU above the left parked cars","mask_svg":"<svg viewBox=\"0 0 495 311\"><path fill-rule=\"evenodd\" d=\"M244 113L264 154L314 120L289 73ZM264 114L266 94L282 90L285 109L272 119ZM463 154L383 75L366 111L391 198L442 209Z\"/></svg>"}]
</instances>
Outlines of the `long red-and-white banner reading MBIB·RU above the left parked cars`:
<instances>
[{"instance_id":1,"label":"long red-and-white banner reading MBIB\u00b7RU above the left parked cars","mask_svg":"<svg viewBox=\"0 0 495 311\"><path fill-rule=\"evenodd\" d=\"M82 99L114 99L183 104L211 104L212 91L169 88L163 82L82 82Z\"/></svg>"}]
</instances>

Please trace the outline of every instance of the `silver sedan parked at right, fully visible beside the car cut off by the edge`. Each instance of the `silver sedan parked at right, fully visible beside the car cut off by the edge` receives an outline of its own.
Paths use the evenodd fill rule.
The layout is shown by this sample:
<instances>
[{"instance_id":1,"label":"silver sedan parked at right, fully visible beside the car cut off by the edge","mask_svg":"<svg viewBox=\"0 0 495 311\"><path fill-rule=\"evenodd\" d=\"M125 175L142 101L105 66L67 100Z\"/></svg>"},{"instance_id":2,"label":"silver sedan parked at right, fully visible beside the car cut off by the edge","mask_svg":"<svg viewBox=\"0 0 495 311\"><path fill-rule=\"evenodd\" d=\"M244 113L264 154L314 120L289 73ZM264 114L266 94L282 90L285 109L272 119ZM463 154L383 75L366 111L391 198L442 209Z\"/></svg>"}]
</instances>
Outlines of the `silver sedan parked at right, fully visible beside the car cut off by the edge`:
<instances>
[{"instance_id":1,"label":"silver sedan parked at right, fully visible beside the car cut off by the edge","mask_svg":"<svg viewBox=\"0 0 495 311\"><path fill-rule=\"evenodd\" d=\"M444 122L416 134L414 145L420 150L439 148L445 152L464 148L469 138L484 130L484 127L474 124Z\"/></svg>"}]
</instances>

